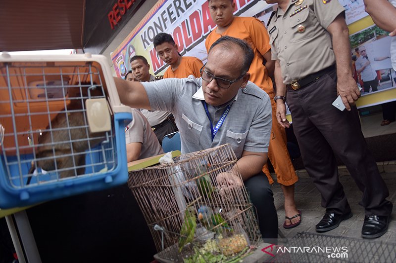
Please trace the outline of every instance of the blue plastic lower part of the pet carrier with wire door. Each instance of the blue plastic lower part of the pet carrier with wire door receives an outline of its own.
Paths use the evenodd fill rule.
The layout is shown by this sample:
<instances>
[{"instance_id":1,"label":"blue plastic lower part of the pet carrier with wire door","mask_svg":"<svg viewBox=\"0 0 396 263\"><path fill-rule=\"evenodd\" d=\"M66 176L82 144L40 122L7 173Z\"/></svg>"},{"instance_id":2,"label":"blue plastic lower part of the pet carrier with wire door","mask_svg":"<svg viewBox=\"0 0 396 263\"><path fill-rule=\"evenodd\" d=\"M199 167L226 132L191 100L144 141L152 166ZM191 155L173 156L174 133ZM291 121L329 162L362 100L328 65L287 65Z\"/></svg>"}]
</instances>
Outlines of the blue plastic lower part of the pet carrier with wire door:
<instances>
[{"instance_id":1,"label":"blue plastic lower part of the pet carrier with wire door","mask_svg":"<svg viewBox=\"0 0 396 263\"><path fill-rule=\"evenodd\" d=\"M130 112L114 113L114 136L112 138L112 144L115 147L110 147L110 149L114 149L115 152L106 152L104 150L104 156L111 155L113 159L103 160L103 154L99 154L102 152L100 150L95 151L94 148L94 151L91 150L91 153L86 154L85 175L53 180L57 176L49 173L40 175L40 182L35 177L32 177L30 184L26 185L27 177L21 176L15 178L8 173L8 171L11 171L11 173L17 171L17 174L19 174L18 164L12 164L6 167L6 162L2 155L0 157L0 208L27 206L126 183L128 180L128 168L124 127L125 123L129 123L131 120L132 114ZM111 141L107 144L111 144ZM33 154L25 154L19 157L23 171L22 174L28 174L30 169L29 162L23 162L23 160L31 160ZM5 158L7 158L8 163L14 163L13 159L18 159L17 156L6 156ZM97 162L106 163L105 165L108 163L109 167L107 171L99 172L105 165L102 165L103 168L101 168L100 165L96 165ZM87 174L91 175L86 176Z\"/></svg>"}]
</instances>

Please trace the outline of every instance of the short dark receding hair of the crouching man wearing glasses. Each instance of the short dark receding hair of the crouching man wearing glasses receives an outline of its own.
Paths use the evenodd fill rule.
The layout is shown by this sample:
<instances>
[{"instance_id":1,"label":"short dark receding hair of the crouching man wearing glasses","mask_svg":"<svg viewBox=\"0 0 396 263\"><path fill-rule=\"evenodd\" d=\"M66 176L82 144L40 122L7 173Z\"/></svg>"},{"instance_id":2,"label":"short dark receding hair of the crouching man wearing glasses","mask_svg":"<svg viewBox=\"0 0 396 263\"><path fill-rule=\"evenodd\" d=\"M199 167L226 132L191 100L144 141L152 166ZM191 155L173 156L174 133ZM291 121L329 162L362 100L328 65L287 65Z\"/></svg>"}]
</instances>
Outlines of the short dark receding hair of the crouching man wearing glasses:
<instances>
[{"instance_id":1,"label":"short dark receding hair of the crouching man wearing glasses","mask_svg":"<svg viewBox=\"0 0 396 263\"><path fill-rule=\"evenodd\" d=\"M212 46L209 49L208 55L210 54L210 51L213 49L213 47L219 44L221 44L222 47L226 48L227 50L230 50L230 52L235 50L236 46L241 48L242 51L244 52L244 61L241 68L241 74L247 73L249 71L250 64L254 58L254 52L253 49L251 49L251 47L247 44L245 40L239 38L233 38L229 36L221 37L212 44Z\"/></svg>"}]
</instances>

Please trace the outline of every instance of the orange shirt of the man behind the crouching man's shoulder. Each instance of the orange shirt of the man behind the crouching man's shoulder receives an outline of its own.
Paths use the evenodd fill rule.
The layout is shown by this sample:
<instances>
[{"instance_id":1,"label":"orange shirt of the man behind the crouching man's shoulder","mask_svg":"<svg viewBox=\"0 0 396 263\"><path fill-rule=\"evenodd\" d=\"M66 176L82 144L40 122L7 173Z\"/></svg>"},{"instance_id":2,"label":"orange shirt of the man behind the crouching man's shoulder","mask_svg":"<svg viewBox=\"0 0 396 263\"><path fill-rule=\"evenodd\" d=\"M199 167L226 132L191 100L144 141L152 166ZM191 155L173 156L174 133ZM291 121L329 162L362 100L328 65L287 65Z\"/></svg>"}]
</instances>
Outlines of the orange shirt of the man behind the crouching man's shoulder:
<instances>
[{"instance_id":1,"label":"orange shirt of the man behind the crouching man's shoulder","mask_svg":"<svg viewBox=\"0 0 396 263\"><path fill-rule=\"evenodd\" d=\"M188 77L189 75L194 75L195 77L200 77L199 70L202 68L203 64L196 57L182 57L182 61L180 62L179 67L175 71L172 70L172 67L169 66L165 73L164 78L169 77L177 77L183 78Z\"/></svg>"}]
</instances>

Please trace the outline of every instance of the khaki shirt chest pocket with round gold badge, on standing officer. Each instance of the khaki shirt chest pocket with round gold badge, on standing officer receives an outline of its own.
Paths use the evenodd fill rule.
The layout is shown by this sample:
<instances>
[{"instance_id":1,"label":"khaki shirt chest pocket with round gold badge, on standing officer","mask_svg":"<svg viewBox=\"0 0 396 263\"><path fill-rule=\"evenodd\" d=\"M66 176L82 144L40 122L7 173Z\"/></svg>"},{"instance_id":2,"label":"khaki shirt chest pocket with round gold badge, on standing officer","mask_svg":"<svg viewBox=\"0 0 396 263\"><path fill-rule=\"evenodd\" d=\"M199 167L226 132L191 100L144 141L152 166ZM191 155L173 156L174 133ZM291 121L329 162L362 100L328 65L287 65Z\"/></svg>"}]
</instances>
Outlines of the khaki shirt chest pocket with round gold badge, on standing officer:
<instances>
[{"instance_id":1,"label":"khaki shirt chest pocket with round gold badge, on standing officer","mask_svg":"<svg viewBox=\"0 0 396 263\"><path fill-rule=\"evenodd\" d=\"M312 37L315 25L311 22L314 18L311 17L310 12L308 7L291 17L290 27L293 43Z\"/></svg>"}]
</instances>

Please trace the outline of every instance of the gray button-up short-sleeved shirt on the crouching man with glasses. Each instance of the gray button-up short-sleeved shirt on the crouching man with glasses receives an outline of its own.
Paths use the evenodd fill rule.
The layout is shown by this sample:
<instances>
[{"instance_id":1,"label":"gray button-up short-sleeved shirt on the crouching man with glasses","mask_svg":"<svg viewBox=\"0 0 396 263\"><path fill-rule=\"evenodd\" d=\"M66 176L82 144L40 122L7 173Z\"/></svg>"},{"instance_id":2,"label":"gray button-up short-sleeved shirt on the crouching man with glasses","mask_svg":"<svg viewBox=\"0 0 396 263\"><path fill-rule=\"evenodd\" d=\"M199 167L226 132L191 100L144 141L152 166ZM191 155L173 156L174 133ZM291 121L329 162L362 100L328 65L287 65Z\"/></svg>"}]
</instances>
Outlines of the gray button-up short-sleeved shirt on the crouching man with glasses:
<instances>
[{"instance_id":1,"label":"gray button-up short-sleeved shirt on the crouching man with glasses","mask_svg":"<svg viewBox=\"0 0 396 263\"><path fill-rule=\"evenodd\" d=\"M212 142L210 121L202 105L201 78L167 78L142 83L152 110L173 113L182 141L189 153L229 143L237 158L243 150L268 152L272 114L269 96L252 82L240 89L229 113ZM213 126L230 104L207 105Z\"/></svg>"}]
</instances>

